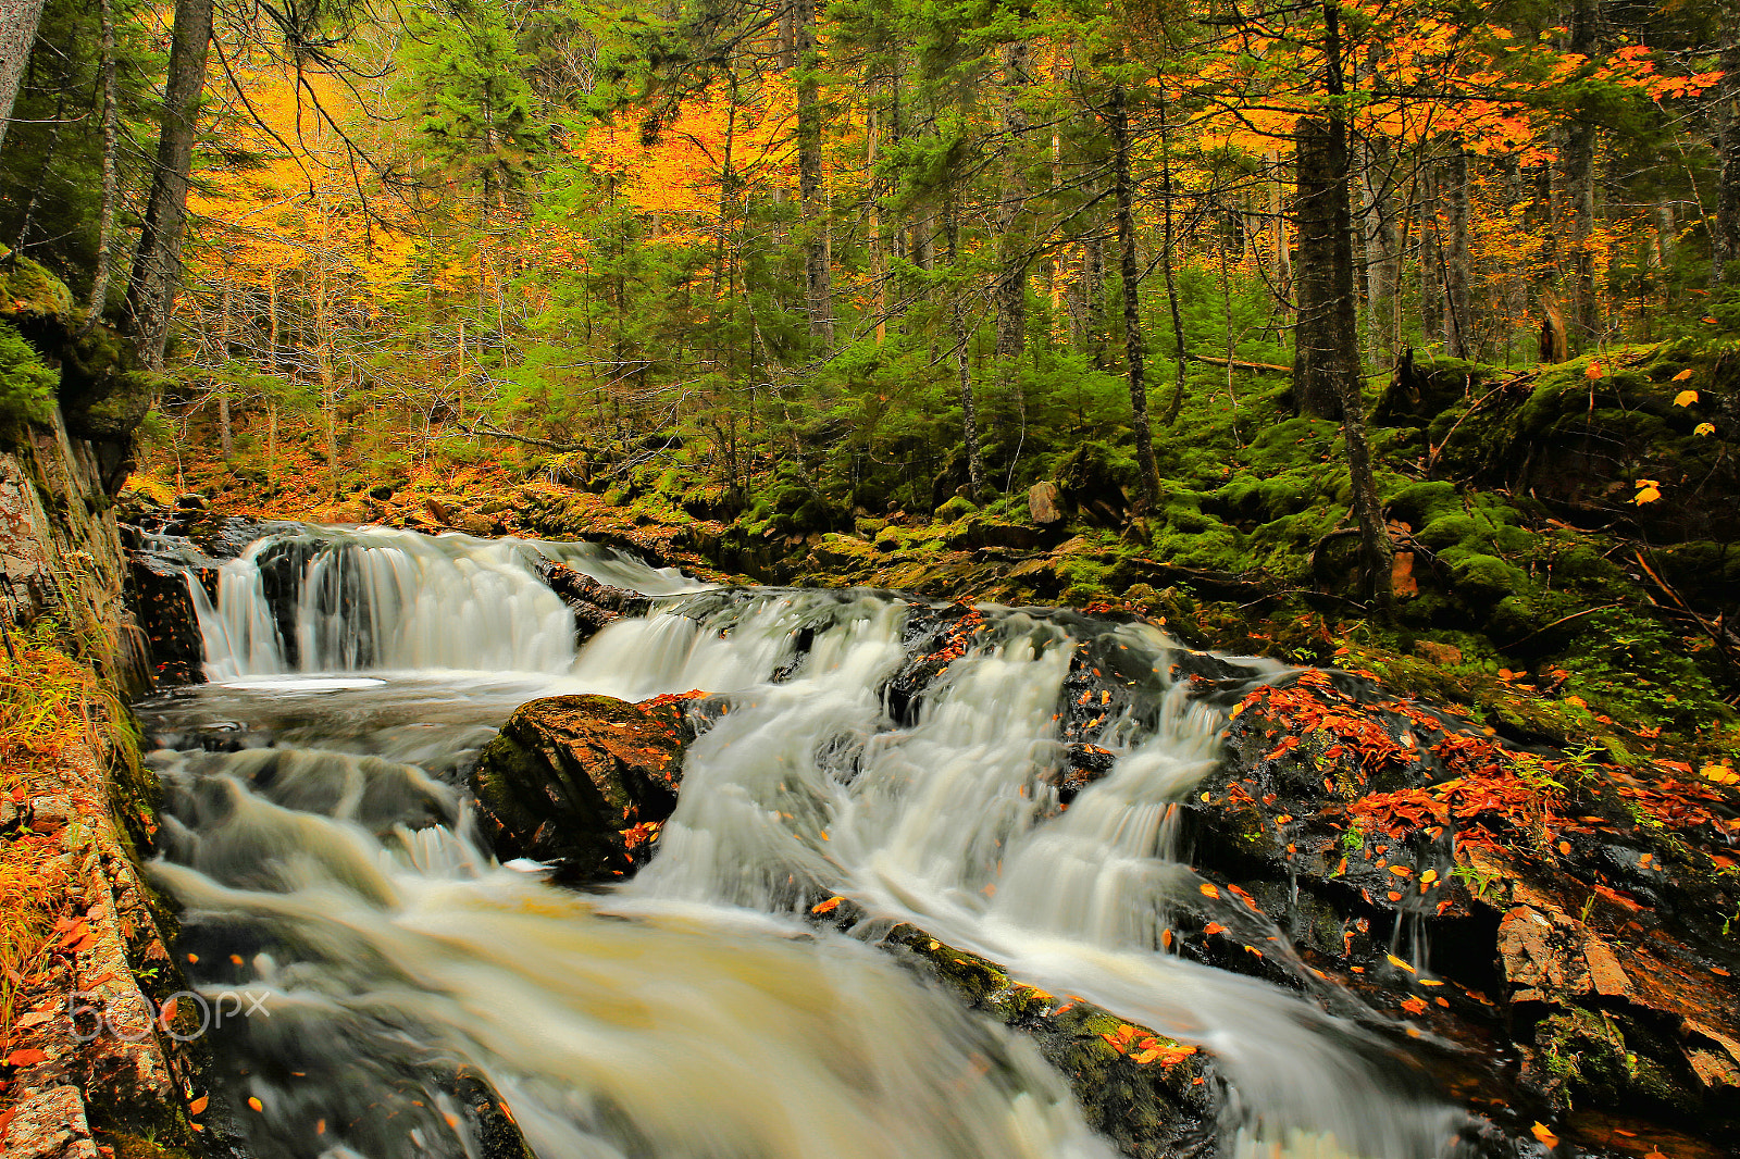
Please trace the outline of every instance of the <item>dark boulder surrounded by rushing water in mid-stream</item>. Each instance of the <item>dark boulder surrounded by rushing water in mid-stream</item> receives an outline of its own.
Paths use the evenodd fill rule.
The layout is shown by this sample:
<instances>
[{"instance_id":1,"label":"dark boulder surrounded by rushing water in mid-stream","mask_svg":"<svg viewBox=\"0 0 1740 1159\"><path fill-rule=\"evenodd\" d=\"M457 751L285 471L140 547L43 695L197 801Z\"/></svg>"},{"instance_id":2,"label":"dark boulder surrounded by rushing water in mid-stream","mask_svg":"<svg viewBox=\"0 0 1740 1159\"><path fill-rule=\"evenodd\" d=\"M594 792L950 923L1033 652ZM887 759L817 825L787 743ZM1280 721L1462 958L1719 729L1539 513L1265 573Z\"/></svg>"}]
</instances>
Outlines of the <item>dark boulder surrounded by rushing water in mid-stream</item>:
<instances>
[{"instance_id":1,"label":"dark boulder surrounded by rushing water in mid-stream","mask_svg":"<svg viewBox=\"0 0 1740 1159\"><path fill-rule=\"evenodd\" d=\"M496 854L553 861L576 884L646 861L677 807L682 750L694 740L687 700L546 696L515 708L472 773Z\"/></svg>"}]
</instances>

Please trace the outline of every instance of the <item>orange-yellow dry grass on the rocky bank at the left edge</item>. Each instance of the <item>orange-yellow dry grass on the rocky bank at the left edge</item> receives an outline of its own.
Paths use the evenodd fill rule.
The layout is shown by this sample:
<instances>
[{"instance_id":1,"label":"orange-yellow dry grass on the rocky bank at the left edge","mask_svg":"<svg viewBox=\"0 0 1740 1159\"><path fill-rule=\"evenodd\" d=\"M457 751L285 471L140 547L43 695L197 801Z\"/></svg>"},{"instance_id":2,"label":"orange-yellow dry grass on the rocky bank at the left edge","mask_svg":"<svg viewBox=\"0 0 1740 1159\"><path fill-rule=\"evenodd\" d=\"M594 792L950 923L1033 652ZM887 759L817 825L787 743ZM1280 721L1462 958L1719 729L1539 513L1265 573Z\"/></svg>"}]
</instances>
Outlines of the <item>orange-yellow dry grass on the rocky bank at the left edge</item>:
<instances>
[{"instance_id":1,"label":"orange-yellow dry grass on the rocky bank at the left edge","mask_svg":"<svg viewBox=\"0 0 1740 1159\"><path fill-rule=\"evenodd\" d=\"M0 649L0 797L23 806L52 787L64 748L92 740L90 705L101 698L84 665L31 639ZM52 865L59 837L0 834L0 1058L12 1041L16 1002L40 969L61 908Z\"/></svg>"}]
</instances>

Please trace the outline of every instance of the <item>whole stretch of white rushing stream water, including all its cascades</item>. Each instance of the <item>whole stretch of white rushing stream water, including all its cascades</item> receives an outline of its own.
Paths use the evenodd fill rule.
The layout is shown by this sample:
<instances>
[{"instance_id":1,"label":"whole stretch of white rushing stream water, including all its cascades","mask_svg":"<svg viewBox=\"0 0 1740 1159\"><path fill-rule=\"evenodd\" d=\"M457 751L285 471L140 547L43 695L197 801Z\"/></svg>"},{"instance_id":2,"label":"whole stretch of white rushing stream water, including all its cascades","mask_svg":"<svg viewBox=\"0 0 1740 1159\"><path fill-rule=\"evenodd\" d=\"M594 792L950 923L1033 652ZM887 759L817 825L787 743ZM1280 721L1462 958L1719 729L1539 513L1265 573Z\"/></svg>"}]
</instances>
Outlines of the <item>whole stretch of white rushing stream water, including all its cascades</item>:
<instances>
[{"instance_id":1,"label":"whole stretch of white rushing stream water, including all its cascades","mask_svg":"<svg viewBox=\"0 0 1740 1159\"><path fill-rule=\"evenodd\" d=\"M527 545L313 534L327 543L291 557L296 663L258 566L271 543L254 545L202 600L214 684L141 707L176 745L151 764L190 969L211 994L270 995L219 1039L256 1154L491 1154L456 1072L499 1091L539 1159L1114 1154L1030 1041L806 924L818 893L886 919L861 929L910 921L1201 1044L1230 1088L1218 1154L1453 1154L1462 1115L1354 1023L1161 950L1199 881L1168 804L1223 726L1169 684L1161 633L1100 628L1152 701L1105 724L1117 764L1058 813L1053 713L1084 621L990 611L994 640L903 724L884 693L900 599L682 595L679 576L569 546L578 569L666 595L576 653ZM456 785L515 705L691 687L729 693L729 712L691 747L637 879L576 894L470 841ZM200 750L214 738L240 750Z\"/></svg>"}]
</instances>

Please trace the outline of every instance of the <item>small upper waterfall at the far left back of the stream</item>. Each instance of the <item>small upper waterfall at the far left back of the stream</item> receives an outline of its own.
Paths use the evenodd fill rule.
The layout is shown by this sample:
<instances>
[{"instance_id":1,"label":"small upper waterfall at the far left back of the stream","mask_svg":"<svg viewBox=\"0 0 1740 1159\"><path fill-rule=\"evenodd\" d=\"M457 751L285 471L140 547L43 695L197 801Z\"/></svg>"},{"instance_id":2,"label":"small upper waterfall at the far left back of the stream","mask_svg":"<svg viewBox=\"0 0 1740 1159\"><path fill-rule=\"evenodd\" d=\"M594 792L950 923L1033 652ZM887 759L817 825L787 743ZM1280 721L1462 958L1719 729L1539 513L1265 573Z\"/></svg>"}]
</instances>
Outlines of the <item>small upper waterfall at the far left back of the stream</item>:
<instances>
[{"instance_id":1,"label":"small upper waterfall at the far left back of the stream","mask_svg":"<svg viewBox=\"0 0 1740 1159\"><path fill-rule=\"evenodd\" d=\"M207 677L567 672L572 616L538 578L539 555L647 595L698 586L590 545L317 527L259 539L226 562L216 602L190 573Z\"/></svg>"}]
</instances>

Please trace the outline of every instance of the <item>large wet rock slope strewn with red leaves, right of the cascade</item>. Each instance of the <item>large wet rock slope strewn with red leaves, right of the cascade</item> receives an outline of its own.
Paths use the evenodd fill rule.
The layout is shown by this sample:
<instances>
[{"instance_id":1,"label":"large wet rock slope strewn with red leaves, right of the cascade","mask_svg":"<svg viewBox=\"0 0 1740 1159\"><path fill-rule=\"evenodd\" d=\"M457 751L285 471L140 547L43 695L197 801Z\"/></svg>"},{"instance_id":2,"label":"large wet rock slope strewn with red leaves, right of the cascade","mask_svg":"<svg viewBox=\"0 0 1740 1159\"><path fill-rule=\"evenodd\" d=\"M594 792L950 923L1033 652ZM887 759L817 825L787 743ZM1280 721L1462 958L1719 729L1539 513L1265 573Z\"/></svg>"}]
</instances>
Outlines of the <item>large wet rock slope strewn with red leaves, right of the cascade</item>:
<instances>
[{"instance_id":1,"label":"large wet rock slope strewn with red leaves, right of the cascade","mask_svg":"<svg viewBox=\"0 0 1740 1159\"><path fill-rule=\"evenodd\" d=\"M1178 806L1202 898L1176 952L1460 1042L1465 1089L1522 1128L1599 1105L1731 1149L1733 809L1676 776L1512 748L1345 673L1256 689Z\"/></svg>"}]
</instances>

